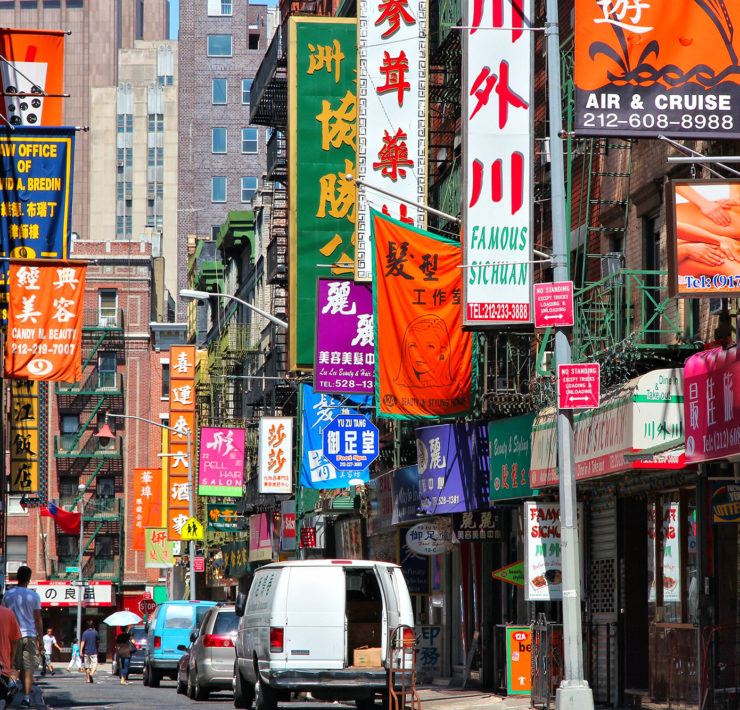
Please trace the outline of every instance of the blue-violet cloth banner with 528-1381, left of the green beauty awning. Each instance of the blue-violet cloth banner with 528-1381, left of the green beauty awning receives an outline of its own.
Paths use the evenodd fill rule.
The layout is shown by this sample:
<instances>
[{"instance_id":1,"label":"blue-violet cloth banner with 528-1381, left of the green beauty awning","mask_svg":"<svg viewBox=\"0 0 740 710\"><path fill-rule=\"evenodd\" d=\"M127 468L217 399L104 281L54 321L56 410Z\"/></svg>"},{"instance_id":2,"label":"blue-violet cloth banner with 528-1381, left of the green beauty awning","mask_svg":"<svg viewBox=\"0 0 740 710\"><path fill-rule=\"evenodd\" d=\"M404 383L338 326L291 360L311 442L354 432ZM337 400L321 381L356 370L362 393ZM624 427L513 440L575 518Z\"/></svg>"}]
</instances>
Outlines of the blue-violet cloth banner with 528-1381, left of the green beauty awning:
<instances>
[{"instance_id":1,"label":"blue-violet cloth banner with 528-1381, left of the green beauty awning","mask_svg":"<svg viewBox=\"0 0 740 710\"><path fill-rule=\"evenodd\" d=\"M438 424L416 430L420 508L427 515L489 507L485 422Z\"/></svg>"}]
</instances>

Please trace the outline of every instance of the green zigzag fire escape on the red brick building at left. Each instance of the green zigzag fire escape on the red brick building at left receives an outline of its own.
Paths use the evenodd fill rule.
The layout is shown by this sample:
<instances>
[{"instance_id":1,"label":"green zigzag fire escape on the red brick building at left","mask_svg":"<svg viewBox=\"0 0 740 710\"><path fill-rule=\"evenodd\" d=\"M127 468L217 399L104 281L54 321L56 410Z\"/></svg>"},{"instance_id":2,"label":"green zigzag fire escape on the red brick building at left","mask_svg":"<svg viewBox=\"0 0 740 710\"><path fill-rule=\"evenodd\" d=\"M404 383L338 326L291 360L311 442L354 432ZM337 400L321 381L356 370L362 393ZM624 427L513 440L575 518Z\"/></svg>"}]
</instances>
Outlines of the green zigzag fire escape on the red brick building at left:
<instances>
[{"instance_id":1,"label":"green zigzag fire escape on the red brick building at left","mask_svg":"<svg viewBox=\"0 0 740 710\"><path fill-rule=\"evenodd\" d=\"M54 437L54 456L61 507L83 507L82 576L85 580L122 583L123 573L123 455L122 440L98 439L103 415L122 410L125 368L123 311L85 311L82 330L82 380L57 382L54 394L60 432ZM85 486L80 492L78 486ZM79 537L56 533L57 559L51 578L76 579Z\"/></svg>"}]
</instances>

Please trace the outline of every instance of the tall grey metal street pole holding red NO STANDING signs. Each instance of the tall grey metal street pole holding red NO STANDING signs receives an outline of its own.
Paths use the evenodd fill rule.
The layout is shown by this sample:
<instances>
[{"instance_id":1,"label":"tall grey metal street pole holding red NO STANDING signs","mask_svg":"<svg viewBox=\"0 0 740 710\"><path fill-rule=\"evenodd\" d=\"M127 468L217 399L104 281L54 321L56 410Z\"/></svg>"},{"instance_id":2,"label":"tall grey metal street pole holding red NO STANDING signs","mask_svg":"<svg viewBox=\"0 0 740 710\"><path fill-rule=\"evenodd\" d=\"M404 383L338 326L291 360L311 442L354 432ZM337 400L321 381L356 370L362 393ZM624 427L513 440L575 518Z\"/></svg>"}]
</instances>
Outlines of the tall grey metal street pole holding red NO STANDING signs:
<instances>
[{"instance_id":1,"label":"tall grey metal street pole holding red NO STANDING signs","mask_svg":"<svg viewBox=\"0 0 740 710\"><path fill-rule=\"evenodd\" d=\"M563 109L560 83L560 35L558 0L547 0L547 84L550 110L550 184L552 194L553 280L568 280L568 241L565 214L565 170L561 138ZM568 334L555 330L555 360L558 365L571 361ZM558 468L560 472L560 549L563 574L563 681L557 689L558 710L591 710L593 693L583 674L583 635L581 631L581 567L578 540L578 505L573 469L573 412L558 409Z\"/></svg>"}]
</instances>

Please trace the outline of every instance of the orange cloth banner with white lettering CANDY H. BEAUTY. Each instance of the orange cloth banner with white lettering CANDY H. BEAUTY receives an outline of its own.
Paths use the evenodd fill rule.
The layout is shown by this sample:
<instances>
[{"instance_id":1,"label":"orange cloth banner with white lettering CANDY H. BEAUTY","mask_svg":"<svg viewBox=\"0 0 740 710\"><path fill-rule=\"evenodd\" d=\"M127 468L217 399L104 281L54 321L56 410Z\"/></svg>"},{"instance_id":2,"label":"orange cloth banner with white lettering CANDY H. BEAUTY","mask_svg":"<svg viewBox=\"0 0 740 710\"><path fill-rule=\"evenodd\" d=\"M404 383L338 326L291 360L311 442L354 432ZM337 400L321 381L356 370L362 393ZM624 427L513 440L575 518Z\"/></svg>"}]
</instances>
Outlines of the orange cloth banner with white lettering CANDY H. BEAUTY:
<instances>
[{"instance_id":1,"label":"orange cloth banner with white lettering CANDY H. BEAUTY","mask_svg":"<svg viewBox=\"0 0 740 710\"><path fill-rule=\"evenodd\" d=\"M11 261L5 376L82 379L82 308L87 264Z\"/></svg>"}]
</instances>

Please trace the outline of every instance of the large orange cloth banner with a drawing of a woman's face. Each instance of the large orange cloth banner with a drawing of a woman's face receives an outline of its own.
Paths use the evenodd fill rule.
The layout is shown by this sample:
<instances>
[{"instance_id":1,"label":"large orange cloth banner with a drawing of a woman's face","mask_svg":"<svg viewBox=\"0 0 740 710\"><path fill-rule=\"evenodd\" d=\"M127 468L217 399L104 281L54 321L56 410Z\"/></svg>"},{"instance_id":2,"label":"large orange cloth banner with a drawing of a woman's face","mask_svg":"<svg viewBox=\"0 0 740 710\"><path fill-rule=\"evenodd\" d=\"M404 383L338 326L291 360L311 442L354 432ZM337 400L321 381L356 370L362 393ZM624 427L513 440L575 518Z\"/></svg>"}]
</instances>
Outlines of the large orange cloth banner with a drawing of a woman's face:
<instances>
[{"instance_id":1,"label":"large orange cloth banner with a drawing of a woman's face","mask_svg":"<svg viewBox=\"0 0 740 710\"><path fill-rule=\"evenodd\" d=\"M372 216L377 415L467 414L475 345L462 329L460 245L374 210Z\"/></svg>"}]
</instances>

